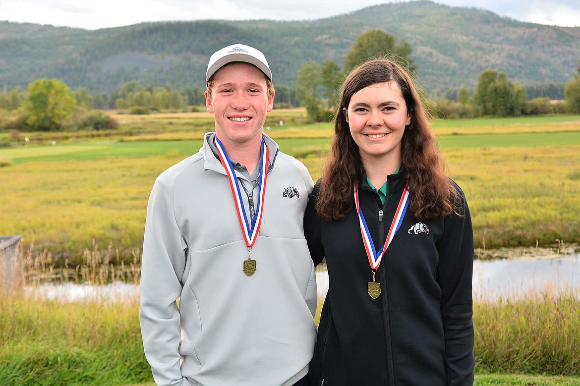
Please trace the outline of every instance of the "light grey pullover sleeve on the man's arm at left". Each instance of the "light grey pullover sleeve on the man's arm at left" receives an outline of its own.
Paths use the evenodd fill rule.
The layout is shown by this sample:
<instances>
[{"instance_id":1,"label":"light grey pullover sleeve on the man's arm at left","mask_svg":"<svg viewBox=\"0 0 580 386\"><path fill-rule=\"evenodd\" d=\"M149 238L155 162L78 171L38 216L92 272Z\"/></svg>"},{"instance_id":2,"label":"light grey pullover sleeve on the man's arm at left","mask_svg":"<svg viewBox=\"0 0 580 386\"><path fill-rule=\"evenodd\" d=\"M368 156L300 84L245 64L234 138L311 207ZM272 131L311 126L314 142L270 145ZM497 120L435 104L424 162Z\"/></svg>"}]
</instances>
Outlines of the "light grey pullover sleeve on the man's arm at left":
<instances>
[{"instance_id":1,"label":"light grey pullover sleeve on the man's arm at left","mask_svg":"<svg viewBox=\"0 0 580 386\"><path fill-rule=\"evenodd\" d=\"M173 208L173 186L155 181L147 205L139 318L143 347L157 385L182 385L180 314L185 242Z\"/></svg>"}]
</instances>

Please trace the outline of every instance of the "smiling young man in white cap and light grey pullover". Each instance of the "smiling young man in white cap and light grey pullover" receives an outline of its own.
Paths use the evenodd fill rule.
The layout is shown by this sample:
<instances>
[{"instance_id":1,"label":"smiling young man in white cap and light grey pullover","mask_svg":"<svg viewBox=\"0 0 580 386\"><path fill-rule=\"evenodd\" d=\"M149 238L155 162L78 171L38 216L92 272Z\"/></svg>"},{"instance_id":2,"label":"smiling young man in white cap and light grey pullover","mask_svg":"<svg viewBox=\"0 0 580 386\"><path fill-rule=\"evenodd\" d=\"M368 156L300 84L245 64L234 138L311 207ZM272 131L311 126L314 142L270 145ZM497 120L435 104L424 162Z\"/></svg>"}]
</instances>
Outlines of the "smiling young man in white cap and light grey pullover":
<instances>
[{"instance_id":1,"label":"smiling young man in white cap and light grey pullover","mask_svg":"<svg viewBox=\"0 0 580 386\"><path fill-rule=\"evenodd\" d=\"M214 53L215 133L162 173L147 207L140 321L158 385L306 385L317 292L303 234L313 181L262 132L266 58Z\"/></svg>"}]
</instances>

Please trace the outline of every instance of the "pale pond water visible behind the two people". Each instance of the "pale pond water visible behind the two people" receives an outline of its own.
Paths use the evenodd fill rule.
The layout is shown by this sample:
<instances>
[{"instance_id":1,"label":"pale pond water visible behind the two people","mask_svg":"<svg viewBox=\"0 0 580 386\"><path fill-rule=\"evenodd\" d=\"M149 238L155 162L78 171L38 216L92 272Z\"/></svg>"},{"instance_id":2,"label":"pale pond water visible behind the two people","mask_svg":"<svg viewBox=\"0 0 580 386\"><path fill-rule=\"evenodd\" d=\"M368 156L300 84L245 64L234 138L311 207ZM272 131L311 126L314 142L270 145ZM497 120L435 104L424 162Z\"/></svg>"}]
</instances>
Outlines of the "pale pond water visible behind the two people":
<instances>
[{"instance_id":1,"label":"pale pond water visible behind the two people","mask_svg":"<svg viewBox=\"0 0 580 386\"><path fill-rule=\"evenodd\" d=\"M513 250L507 251L505 256L509 258L476 258L473 263L474 300L516 299L580 290L580 253L514 254ZM317 267L316 279L318 296L324 297L328 291L328 274L324 264ZM139 287L122 282L102 286L45 283L26 287L26 294L59 301L132 301L139 297Z\"/></svg>"}]
</instances>

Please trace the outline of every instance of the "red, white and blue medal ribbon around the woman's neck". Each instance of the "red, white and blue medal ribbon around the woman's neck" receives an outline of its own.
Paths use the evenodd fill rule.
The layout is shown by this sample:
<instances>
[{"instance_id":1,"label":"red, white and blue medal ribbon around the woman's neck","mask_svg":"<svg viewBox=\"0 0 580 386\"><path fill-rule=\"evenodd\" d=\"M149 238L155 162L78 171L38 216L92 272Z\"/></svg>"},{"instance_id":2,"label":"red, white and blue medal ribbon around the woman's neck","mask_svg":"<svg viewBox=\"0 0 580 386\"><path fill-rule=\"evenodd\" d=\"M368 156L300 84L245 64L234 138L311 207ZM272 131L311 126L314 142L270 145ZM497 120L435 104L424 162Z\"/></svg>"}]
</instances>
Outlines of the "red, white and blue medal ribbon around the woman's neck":
<instances>
[{"instance_id":1,"label":"red, white and blue medal ribbon around the woman's neck","mask_svg":"<svg viewBox=\"0 0 580 386\"><path fill-rule=\"evenodd\" d=\"M387 239L385 240L385 245L383 245L379 252L375 250L375 244L372 242L371 232L368 231L367 221L364 219L364 214L362 214L362 209L358 204L358 185L354 185L354 204L357 207L358 222L361 225L362 242L367 250L368 262L371 264L371 269L376 270L379 267L380 261L383 259L389 244L393 240L394 235L397 233L403 223L403 217L405 217L405 212L407 212L407 207L409 206L409 183L405 185L403 190L403 195L398 203L397 212L393 217L393 222L391 222L391 227L389 228L389 233L387 234Z\"/></svg>"}]
</instances>

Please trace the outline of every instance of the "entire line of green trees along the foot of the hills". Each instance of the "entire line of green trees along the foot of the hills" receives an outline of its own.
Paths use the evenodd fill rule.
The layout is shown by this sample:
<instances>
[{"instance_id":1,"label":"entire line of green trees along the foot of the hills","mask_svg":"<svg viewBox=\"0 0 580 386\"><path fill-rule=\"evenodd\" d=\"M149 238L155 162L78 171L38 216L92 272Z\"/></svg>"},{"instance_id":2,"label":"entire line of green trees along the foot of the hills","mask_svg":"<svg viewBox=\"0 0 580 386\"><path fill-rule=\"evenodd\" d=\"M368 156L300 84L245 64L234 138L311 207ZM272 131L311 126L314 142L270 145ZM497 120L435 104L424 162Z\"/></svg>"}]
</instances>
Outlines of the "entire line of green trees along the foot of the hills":
<instances>
[{"instance_id":1,"label":"entire line of green trees along the foot of the hills","mask_svg":"<svg viewBox=\"0 0 580 386\"><path fill-rule=\"evenodd\" d=\"M295 88L275 86L274 107L302 106L311 121L328 121L335 114L342 79L354 67L374 57L389 57L415 76L417 67L411 53L411 45L404 39L381 30L363 32L345 53L343 68L333 61L324 65L307 61L298 71ZM534 92L558 90L554 85L542 87L536 86ZM175 89L131 81L110 94L91 95L85 88L72 92L58 79L37 79L28 85L26 92L14 88L0 93L0 129L115 129L118 123L102 110L116 109L129 114L201 111L205 108L204 92L200 87ZM554 103L549 97L528 100L528 96L524 86L509 81L504 72L490 68L481 72L474 90L461 88L453 94L435 93L430 98L424 95L424 101L433 115L440 118L580 113L580 61L577 75L564 86L565 101Z\"/></svg>"}]
</instances>

